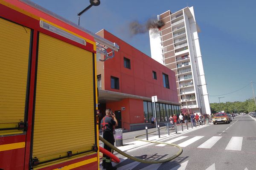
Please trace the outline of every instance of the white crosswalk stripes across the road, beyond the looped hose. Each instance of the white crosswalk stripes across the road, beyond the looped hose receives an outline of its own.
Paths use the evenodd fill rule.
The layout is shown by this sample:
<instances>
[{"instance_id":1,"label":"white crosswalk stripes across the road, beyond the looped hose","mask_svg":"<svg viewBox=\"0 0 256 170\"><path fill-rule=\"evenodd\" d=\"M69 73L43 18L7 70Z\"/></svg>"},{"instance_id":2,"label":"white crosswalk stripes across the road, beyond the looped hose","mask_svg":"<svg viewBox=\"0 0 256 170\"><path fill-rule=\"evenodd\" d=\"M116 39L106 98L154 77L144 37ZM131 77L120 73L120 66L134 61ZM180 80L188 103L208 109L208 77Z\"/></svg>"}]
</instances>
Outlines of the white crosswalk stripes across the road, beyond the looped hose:
<instances>
[{"instance_id":1,"label":"white crosswalk stripes across the road, beyond the looped hose","mask_svg":"<svg viewBox=\"0 0 256 170\"><path fill-rule=\"evenodd\" d=\"M208 138L208 136L179 136L175 139L166 141L166 143L175 143L178 144L180 147L187 147L195 142L198 142L200 139L202 139L200 142L199 146L197 146L197 148L204 148L204 149L211 149L217 142L221 141L221 139L223 139L222 136L212 136L209 139L205 139L204 138ZM233 136L230 137L230 139L225 138L224 140L227 143L227 146L224 148L225 150L237 150L240 151L242 148L242 143L243 143L243 137L239 137L239 136ZM227 142L229 141L229 142ZM221 142L223 144L223 141ZM157 144L155 146L157 147L163 147L166 144Z\"/></svg>"}]
</instances>

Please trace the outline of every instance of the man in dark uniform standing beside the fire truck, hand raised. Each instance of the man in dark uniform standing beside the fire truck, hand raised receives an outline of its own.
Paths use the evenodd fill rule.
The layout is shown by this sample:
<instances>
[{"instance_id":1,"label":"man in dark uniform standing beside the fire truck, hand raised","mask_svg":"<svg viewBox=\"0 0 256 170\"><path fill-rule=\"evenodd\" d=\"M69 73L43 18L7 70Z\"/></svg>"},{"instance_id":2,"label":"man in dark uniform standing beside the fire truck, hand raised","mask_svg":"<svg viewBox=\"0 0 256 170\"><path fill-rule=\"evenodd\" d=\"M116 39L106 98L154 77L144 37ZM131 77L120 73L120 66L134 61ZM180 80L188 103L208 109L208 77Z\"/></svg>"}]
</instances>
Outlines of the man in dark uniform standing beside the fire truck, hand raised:
<instances>
[{"instance_id":1,"label":"man in dark uniform standing beside the fire truck, hand raised","mask_svg":"<svg viewBox=\"0 0 256 170\"><path fill-rule=\"evenodd\" d=\"M106 116L103 117L101 123L101 128L103 132L103 138L114 145L115 139L113 135L113 127L118 126L118 122L116 120L116 115L111 111L111 109L106 109ZM113 152L110 147L104 144L104 149L108 150L109 152ZM102 157L102 167L106 170L116 170L116 167L112 166L111 158L103 154Z\"/></svg>"}]
</instances>

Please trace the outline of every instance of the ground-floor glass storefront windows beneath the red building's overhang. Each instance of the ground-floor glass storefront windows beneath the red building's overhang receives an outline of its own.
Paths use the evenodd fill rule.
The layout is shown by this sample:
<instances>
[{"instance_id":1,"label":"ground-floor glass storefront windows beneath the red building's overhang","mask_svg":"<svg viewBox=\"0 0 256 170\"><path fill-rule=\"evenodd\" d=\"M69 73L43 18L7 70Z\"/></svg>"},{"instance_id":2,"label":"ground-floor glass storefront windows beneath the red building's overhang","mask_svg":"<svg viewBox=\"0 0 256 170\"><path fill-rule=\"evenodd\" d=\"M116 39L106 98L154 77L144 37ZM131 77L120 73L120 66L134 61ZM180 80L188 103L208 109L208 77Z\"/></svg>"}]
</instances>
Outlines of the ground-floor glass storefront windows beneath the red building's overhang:
<instances>
[{"instance_id":1,"label":"ground-floor glass storefront windows beneath the red building's overhang","mask_svg":"<svg viewBox=\"0 0 256 170\"><path fill-rule=\"evenodd\" d=\"M157 112L157 122L167 122L169 121L169 116L180 113L180 106L168 105L165 103L155 103ZM151 116L155 117L154 103L143 101L144 109L144 122L151 122Z\"/></svg>"}]
</instances>

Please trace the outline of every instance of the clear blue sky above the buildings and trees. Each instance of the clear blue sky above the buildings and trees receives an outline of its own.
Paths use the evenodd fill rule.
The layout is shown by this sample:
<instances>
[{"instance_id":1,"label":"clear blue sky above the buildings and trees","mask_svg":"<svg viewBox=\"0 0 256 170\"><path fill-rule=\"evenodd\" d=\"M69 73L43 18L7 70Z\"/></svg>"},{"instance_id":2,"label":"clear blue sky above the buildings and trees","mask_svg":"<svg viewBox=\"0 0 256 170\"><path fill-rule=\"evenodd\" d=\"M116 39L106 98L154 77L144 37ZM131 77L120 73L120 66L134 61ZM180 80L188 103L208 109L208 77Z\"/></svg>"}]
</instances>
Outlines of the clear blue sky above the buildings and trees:
<instances>
[{"instance_id":1,"label":"clear blue sky above the buildings and trees","mask_svg":"<svg viewBox=\"0 0 256 170\"><path fill-rule=\"evenodd\" d=\"M32 0L62 17L78 23L77 13L89 0ZM194 6L204 72L210 102L218 96L256 82L256 1L254 0L101 0L81 16L80 25L97 32L102 28L150 56L149 35L131 37L128 24L170 10L172 13ZM256 83L253 84L256 89ZM220 96L222 97L222 96ZM241 91L224 95L221 102L244 101L252 97L248 85Z\"/></svg>"}]
</instances>

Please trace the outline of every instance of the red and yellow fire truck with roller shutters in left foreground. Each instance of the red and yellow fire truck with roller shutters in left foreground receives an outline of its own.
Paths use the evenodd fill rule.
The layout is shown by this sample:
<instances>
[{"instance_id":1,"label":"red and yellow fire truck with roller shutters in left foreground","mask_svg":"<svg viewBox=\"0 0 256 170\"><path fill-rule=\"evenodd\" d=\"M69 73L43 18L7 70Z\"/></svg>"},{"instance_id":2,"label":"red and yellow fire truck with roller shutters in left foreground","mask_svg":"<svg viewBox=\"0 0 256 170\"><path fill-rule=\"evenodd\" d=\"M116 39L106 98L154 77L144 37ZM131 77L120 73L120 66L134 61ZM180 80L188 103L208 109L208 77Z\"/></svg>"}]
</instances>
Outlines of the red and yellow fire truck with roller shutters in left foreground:
<instances>
[{"instance_id":1,"label":"red and yellow fire truck with roller shutters in left foreground","mask_svg":"<svg viewBox=\"0 0 256 170\"><path fill-rule=\"evenodd\" d=\"M106 48L119 46L29 0L0 0L1 170L99 169L95 68Z\"/></svg>"}]
</instances>

